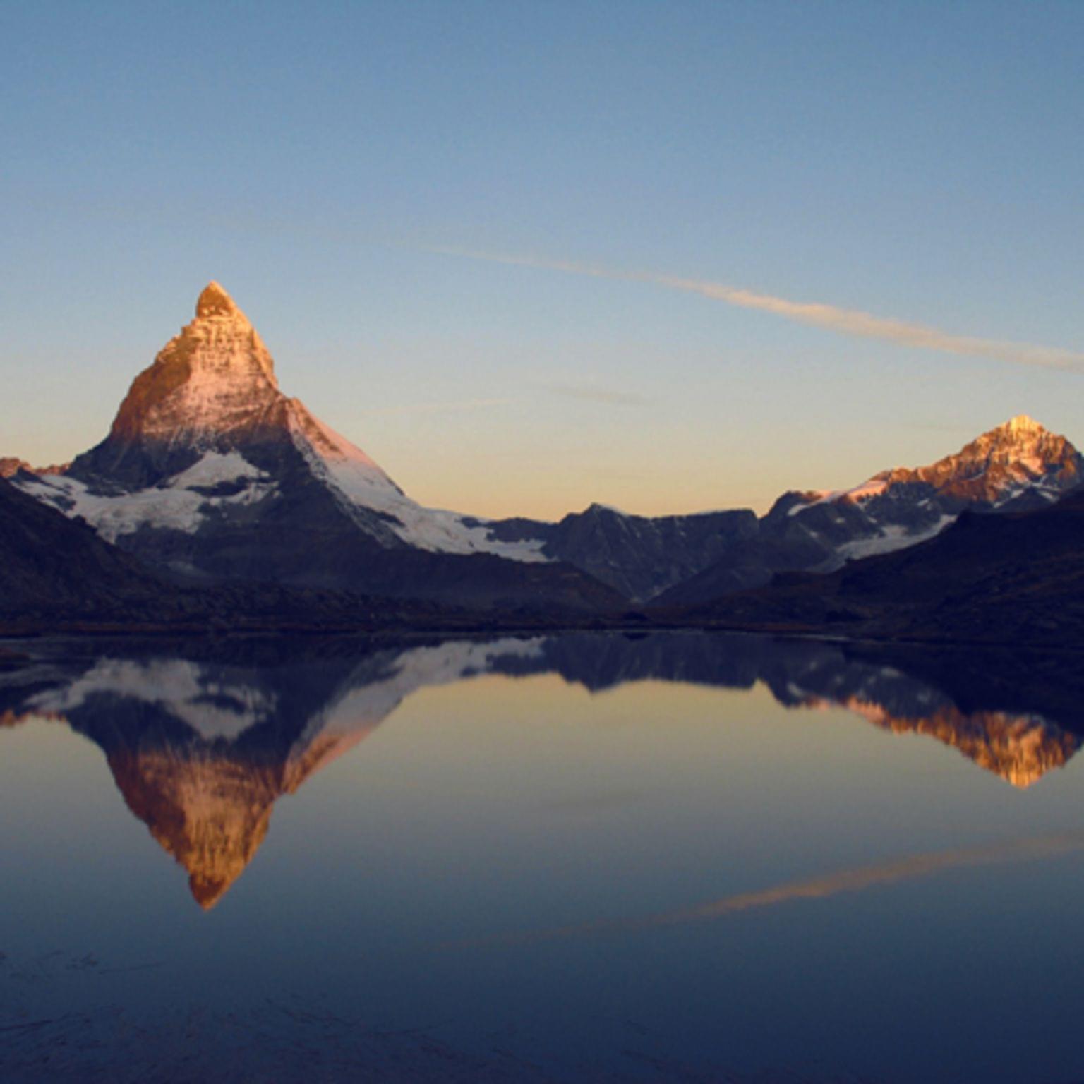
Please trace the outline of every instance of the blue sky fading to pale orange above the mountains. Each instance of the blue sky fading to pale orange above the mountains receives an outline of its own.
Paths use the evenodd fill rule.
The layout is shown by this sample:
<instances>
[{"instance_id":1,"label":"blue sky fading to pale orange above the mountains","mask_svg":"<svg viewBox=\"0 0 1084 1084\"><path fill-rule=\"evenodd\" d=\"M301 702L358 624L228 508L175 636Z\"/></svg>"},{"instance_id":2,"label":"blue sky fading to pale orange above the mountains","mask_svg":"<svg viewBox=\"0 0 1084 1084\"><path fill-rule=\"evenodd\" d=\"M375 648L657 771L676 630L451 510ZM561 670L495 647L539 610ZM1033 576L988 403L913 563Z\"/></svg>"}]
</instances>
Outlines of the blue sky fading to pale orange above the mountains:
<instances>
[{"instance_id":1,"label":"blue sky fading to pale orange above the mountains","mask_svg":"<svg viewBox=\"0 0 1084 1084\"><path fill-rule=\"evenodd\" d=\"M1084 443L1084 359L660 281L1081 354L1082 41L1024 0L0 0L0 454L101 439L210 279L467 512L763 509L1017 413Z\"/></svg>"}]
</instances>

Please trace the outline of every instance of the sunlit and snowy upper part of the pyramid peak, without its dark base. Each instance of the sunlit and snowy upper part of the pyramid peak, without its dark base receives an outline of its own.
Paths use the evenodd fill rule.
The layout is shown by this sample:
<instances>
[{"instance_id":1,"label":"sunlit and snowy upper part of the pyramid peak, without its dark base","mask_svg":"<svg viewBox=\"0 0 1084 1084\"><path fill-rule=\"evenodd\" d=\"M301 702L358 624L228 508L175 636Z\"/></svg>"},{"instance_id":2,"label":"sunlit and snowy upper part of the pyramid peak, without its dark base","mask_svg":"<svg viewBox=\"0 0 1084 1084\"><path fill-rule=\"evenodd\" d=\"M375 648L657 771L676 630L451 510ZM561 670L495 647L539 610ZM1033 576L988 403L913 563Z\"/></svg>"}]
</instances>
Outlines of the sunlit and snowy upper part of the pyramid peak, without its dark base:
<instances>
[{"instance_id":1,"label":"sunlit and snowy upper part of the pyramid peak, without its dark base","mask_svg":"<svg viewBox=\"0 0 1084 1084\"><path fill-rule=\"evenodd\" d=\"M485 520L422 507L360 448L283 395L267 347L217 282L132 383L109 436L69 475L26 479L24 488L83 516L109 541L134 545L153 531L197 534L228 521L247 530L289 493L308 514L299 492L312 481L384 546L547 559L541 540L500 541Z\"/></svg>"}]
</instances>

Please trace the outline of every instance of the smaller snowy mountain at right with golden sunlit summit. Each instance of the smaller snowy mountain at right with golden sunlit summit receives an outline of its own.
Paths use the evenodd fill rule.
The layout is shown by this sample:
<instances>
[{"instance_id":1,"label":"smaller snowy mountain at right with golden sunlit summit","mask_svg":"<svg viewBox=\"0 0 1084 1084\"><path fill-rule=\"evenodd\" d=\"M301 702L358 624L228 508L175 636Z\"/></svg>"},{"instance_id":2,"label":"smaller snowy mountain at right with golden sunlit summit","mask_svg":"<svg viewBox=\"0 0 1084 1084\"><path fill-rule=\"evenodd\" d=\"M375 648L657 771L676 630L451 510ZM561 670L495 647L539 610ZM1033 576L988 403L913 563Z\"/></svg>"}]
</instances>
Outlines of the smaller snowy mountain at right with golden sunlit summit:
<instances>
[{"instance_id":1,"label":"smaller snowy mountain at right with golden sunlit summit","mask_svg":"<svg viewBox=\"0 0 1084 1084\"><path fill-rule=\"evenodd\" d=\"M1080 485L1082 468L1064 437L1015 417L929 466L882 470L849 490L785 493L752 537L656 602L698 605L779 572L830 572L933 538L964 512L1047 507Z\"/></svg>"}]
</instances>

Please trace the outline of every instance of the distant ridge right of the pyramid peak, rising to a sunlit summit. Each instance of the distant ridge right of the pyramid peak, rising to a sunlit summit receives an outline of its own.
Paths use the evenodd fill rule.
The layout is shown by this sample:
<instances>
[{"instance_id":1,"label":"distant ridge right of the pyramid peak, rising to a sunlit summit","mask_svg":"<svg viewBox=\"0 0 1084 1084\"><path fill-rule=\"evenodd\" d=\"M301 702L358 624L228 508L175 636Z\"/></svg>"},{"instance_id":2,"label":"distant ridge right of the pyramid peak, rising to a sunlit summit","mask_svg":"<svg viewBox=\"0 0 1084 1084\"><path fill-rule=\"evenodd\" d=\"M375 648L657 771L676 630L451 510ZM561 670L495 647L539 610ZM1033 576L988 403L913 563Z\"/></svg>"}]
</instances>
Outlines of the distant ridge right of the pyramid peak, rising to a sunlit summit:
<instances>
[{"instance_id":1,"label":"distant ridge right of the pyramid peak, rising to a sunlit summit","mask_svg":"<svg viewBox=\"0 0 1084 1084\"><path fill-rule=\"evenodd\" d=\"M850 490L790 492L766 516L630 516L593 504L558 524L509 519L493 537L591 572L634 602L691 605L761 586L783 571L831 571L932 538L962 512L1048 506L1082 478L1080 453L1015 417L928 467L883 470Z\"/></svg>"}]
</instances>

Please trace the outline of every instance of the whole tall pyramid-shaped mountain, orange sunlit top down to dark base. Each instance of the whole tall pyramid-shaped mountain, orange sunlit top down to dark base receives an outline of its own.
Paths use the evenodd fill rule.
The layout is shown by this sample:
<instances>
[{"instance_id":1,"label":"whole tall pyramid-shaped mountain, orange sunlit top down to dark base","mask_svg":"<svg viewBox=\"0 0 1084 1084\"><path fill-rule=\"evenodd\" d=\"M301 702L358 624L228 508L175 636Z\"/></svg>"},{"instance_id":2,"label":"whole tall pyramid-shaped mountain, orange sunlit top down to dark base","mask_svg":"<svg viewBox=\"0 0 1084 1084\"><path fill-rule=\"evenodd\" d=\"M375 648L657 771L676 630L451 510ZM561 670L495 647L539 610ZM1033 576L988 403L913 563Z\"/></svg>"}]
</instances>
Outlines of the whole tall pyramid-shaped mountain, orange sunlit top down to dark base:
<instances>
[{"instance_id":1,"label":"whole tall pyramid-shaped mountain, orange sunlit top down to dark base","mask_svg":"<svg viewBox=\"0 0 1084 1084\"><path fill-rule=\"evenodd\" d=\"M620 597L533 542L423 508L279 388L256 330L216 283L134 380L108 436L25 492L196 582L248 580L479 607L590 610Z\"/></svg>"}]
</instances>

